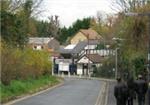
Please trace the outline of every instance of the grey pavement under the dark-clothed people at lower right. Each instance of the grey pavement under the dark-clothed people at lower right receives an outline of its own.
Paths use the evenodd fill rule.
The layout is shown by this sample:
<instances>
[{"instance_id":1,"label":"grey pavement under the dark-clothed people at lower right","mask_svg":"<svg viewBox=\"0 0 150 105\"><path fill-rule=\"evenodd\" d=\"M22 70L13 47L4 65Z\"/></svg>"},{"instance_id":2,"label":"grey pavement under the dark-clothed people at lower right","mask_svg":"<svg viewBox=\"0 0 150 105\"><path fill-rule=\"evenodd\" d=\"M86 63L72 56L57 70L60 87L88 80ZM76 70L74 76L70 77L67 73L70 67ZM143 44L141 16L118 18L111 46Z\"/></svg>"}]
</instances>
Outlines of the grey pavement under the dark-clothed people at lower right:
<instances>
[{"instance_id":1,"label":"grey pavement under the dark-clothed people at lower right","mask_svg":"<svg viewBox=\"0 0 150 105\"><path fill-rule=\"evenodd\" d=\"M116 105L116 99L114 97L114 86L116 82L109 82L109 89L108 89L108 101L107 105ZM137 99L134 100L133 105L138 105ZM146 95L146 102L145 105L148 105L148 95Z\"/></svg>"}]
</instances>

